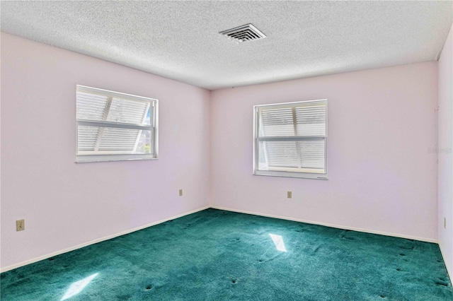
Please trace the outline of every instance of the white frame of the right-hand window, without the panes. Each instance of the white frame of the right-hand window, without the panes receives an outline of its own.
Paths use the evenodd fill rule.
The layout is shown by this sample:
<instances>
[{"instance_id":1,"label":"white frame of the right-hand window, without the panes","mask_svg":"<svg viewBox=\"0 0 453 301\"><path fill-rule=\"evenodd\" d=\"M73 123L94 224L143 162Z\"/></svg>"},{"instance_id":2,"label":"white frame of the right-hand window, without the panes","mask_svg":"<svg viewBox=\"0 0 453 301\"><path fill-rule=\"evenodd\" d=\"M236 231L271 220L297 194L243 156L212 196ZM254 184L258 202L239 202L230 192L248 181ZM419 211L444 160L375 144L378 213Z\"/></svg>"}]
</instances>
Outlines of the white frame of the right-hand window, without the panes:
<instances>
[{"instance_id":1,"label":"white frame of the right-hand window, without the panes","mask_svg":"<svg viewBox=\"0 0 453 301\"><path fill-rule=\"evenodd\" d=\"M314 103L324 103L326 105L326 135L325 136L276 136L276 137L260 137L260 110L273 109L283 107L296 107L297 105L313 105ZM294 114L294 113L293 113ZM253 175L265 175L273 177L297 177L306 179L328 179L328 160L327 160L327 144L328 144L328 106L327 100L305 100L298 102L282 102L270 105L255 105L253 106ZM281 170L259 170L259 145L260 141L303 141L303 140L323 140L324 143L324 173L308 172L308 171L290 171L291 168L282 168ZM297 150L299 151L299 150ZM299 155L299 154L298 154Z\"/></svg>"}]
</instances>

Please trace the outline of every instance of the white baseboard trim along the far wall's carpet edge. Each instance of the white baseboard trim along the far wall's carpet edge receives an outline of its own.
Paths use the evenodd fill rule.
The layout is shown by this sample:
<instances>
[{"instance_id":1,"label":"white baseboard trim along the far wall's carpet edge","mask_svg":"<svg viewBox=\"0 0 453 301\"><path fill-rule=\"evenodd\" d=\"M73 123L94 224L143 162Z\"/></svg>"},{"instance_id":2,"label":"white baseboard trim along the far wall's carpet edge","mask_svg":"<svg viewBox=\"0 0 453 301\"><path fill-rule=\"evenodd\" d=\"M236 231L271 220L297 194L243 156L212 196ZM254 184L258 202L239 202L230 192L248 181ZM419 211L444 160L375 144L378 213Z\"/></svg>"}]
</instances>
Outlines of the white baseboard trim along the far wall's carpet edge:
<instances>
[{"instance_id":1,"label":"white baseboard trim along the far wall's carpet edge","mask_svg":"<svg viewBox=\"0 0 453 301\"><path fill-rule=\"evenodd\" d=\"M382 231L368 230L368 229L362 229L362 228L354 228L354 227L348 227L348 226L345 226L345 225L335 225L335 224L330 224L330 223L321 223L321 222L315 222L313 220L303 220L303 219L300 219L300 218L288 218L287 216L275 216L273 214L258 213L258 212L245 211L245 210L237 210L237 209L226 208L226 207L221 207L221 206L211 206L211 208L219 209L219 210L225 210L225 211L232 211L232 212L237 212L237 213L251 214L253 216L265 216L267 218L280 218L281 220L292 220L294 222L308 223L308 224L313 224L313 225L323 225L323 226L331 227L331 228L338 228L338 229L352 230L352 231L357 231L357 232L365 232L365 233L371 233L371 234L378 234L378 235L386 235L386 236L392 236L392 237L406 238L408 240L420 240L421 242L434 242L435 244L438 244L437 240L434 240L432 238L426 238L426 237L416 237L416 236L401 235L401 234L391 233L391 232L382 232Z\"/></svg>"}]
</instances>

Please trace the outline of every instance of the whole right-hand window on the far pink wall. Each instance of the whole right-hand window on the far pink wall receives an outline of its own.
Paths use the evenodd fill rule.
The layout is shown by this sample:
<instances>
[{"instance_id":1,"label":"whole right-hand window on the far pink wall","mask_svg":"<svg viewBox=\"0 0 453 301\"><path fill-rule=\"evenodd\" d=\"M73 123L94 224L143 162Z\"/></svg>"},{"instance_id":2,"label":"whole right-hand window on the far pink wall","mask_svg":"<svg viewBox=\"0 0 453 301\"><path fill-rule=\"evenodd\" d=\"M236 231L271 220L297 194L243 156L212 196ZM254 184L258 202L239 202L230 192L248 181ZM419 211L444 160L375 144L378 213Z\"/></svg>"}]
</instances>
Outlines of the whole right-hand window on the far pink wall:
<instances>
[{"instance_id":1,"label":"whole right-hand window on the far pink wall","mask_svg":"<svg viewBox=\"0 0 453 301\"><path fill-rule=\"evenodd\" d=\"M253 174L327 179L327 100L256 105Z\"/></svg>"}]
</instances>

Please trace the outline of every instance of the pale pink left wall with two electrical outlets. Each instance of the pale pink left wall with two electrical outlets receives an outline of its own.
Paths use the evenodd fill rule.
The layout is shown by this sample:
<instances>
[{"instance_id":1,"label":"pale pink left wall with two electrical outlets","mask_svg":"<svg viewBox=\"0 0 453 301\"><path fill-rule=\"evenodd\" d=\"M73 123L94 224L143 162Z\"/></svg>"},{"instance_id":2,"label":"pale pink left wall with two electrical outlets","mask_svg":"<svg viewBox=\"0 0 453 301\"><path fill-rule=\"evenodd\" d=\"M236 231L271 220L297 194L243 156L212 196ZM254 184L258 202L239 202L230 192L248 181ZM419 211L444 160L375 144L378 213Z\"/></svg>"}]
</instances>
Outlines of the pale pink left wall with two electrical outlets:
<instances>
[{"instance_id":1,"label":"pale pink left wall with two electrical outlets","mask_svg":"<svg viewBox=\"0 0 453 301\"><path fill-rule=\"evenodd\" d=\"M159 99L159 160L74 163L76 84ZM209 191L210 91L1 34L2 268L208 206Z\"/></svg>"}]
</instances>

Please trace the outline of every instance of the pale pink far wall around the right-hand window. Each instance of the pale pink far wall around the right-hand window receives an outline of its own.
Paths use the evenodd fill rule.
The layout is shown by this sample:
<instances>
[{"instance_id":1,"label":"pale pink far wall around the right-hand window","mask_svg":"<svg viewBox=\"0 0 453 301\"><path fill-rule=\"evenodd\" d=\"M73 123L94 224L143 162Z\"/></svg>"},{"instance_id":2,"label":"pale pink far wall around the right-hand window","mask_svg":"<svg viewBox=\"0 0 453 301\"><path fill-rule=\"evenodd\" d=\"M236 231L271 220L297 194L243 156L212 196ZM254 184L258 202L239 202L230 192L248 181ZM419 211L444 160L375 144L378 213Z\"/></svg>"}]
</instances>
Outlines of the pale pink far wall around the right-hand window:
<instances>
[{"instance_id":1,"label":"pale pink far wall around the right-hand window","mask_svg":"<svg viewBox=\"0 0 453 301\"><path fill-rule=\"evenodd\" d=\"M323 98L329 179L252 175L253 105ZM437 241L436 107L435 61L215 90L212 206Z\"/></svg>"}]
</instances>

